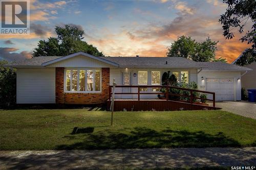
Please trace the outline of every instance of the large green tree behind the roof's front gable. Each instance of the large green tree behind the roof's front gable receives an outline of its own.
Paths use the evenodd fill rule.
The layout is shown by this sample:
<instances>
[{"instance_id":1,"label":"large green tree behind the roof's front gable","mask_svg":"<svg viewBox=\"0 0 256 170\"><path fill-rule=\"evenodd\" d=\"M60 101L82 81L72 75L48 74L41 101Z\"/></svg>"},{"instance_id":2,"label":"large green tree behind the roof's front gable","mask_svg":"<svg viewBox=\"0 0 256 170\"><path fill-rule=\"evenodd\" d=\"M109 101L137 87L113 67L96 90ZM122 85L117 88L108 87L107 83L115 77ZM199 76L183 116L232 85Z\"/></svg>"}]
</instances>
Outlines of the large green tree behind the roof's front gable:
<instances>
[{"instance_id":1,"label":"large green tree behind the roof's front gable","mask_svg":"<svg viewBox=\"0 0 256 170\"><path fill-rule=\"evenodd\" d=\"M97 47L83 41L84 31L74 25L55 27L57 37L40 40L33 51L33 57L67 56L76 52L84 52L94 56L104 56Z\"/></svg>"}]
</instances>

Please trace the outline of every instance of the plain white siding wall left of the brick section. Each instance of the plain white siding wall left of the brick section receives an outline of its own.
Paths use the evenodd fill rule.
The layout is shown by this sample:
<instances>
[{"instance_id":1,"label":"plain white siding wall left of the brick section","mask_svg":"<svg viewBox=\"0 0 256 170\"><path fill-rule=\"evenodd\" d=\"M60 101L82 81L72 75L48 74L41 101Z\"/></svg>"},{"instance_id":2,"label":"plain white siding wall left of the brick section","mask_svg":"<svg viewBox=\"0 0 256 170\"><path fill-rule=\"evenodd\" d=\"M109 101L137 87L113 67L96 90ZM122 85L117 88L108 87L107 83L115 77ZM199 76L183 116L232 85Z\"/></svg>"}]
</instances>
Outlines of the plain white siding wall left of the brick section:
<instances>
[{"instance_id":1,"label":"plain white siding wall left of the brick section","mask_svg":"<svg viewBox=\"0 0 256 170\"><path fill-rule=\"evenodd\" d=\"M55 103L55 68L18 68L17 104Z\"/></svg>"}]
</instances>

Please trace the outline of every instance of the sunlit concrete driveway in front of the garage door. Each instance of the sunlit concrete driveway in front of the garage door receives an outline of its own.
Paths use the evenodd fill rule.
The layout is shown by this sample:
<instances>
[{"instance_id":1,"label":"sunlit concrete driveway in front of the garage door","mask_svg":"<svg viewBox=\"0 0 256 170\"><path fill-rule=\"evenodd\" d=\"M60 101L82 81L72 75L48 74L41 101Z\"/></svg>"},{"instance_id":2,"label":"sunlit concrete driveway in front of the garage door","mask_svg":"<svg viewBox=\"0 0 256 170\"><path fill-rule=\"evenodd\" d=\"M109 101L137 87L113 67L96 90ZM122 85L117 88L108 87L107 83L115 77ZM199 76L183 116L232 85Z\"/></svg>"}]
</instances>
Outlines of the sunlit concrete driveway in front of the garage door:
<instances>
[{"instance_id":1,"label":"sunlit concrete driveway in front of the garage door","mask_svg":"<svg viewBox=\"0 0 256 170\"><path fill-rule=\"evenodd\" d=\"M217 102L216 107L221 107L222 110L239 114L241 116L256 119L256 103L252 102Z\"/></svg>"}]
</instances>

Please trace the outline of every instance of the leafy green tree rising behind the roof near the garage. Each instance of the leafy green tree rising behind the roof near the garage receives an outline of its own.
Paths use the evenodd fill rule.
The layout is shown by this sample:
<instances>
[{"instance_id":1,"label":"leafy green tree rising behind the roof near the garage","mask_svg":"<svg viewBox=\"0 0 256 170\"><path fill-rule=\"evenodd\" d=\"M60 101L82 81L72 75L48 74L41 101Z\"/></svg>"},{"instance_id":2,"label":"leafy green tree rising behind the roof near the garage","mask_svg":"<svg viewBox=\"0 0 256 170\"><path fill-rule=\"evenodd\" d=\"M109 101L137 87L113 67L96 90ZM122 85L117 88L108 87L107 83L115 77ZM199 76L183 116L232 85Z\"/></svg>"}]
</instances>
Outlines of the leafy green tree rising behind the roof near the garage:
<instances>
[{"instance_id":1,"label":"leafy green tree rising behind the roof near the garage","mask_svg":"<svg viewBox=\"0 0 256 170\"><path fill-rule=\"evenodd\" d=\"M193 61L224 61L215 58L218 42L212 41L209 37L203 42L186 36L178 37L168 48L167 57L184 57Z\"/></svg>"}]
</instances>

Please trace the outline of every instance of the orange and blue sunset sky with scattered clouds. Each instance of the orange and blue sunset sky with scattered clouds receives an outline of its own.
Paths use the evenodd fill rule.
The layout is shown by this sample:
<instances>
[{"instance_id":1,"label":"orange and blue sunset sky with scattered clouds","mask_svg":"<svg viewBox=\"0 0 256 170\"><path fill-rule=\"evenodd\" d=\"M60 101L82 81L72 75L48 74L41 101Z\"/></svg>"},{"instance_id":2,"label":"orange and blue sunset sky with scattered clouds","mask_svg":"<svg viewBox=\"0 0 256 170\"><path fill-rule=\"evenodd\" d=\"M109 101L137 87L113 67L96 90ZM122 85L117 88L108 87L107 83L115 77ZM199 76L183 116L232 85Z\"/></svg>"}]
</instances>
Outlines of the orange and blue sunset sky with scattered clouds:
<instances>
[{"instance_id":1,"label":"orange and blue sunset sky with scattered clouds","mask_svg":"<svg viewBox=\"0 0 256 170\"><path fill-rule=\"evenodd\" d=\"M54 26L81 27L85 40L106 56L166 56L178 36L219 41L217 58L232 62L247 43L240 34L225 40L218 19L225 4L218 0L30 1L30 35L0 35L0 59L30 58L38 40L56 36Z\"/></svg>"}]
</instances>

